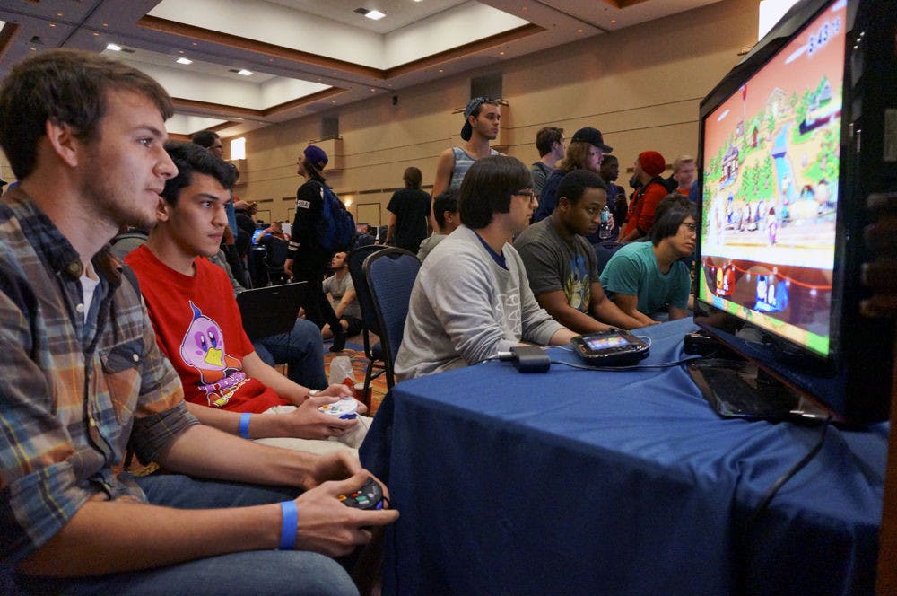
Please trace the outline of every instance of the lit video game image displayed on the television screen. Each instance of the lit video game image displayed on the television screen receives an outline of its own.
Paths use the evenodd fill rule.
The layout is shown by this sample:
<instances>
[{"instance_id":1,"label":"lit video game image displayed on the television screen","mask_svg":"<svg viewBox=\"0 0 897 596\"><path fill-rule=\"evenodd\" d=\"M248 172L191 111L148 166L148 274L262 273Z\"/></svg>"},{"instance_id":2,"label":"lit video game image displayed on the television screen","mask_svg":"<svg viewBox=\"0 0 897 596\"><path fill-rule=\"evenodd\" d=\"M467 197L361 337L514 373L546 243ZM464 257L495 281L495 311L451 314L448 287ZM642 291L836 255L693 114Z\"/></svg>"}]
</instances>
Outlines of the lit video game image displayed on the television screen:
<instances>
[{"instance_id":1,"label":"lit video game image displayed on the television screen","mask_svg":"<svg viewBox=\"0 0 897 596\"><path fill-rule=\"evenodd\" d=\"M698 298L830 350L847 2L703 121Z\"/></svg>"}]
</instances>

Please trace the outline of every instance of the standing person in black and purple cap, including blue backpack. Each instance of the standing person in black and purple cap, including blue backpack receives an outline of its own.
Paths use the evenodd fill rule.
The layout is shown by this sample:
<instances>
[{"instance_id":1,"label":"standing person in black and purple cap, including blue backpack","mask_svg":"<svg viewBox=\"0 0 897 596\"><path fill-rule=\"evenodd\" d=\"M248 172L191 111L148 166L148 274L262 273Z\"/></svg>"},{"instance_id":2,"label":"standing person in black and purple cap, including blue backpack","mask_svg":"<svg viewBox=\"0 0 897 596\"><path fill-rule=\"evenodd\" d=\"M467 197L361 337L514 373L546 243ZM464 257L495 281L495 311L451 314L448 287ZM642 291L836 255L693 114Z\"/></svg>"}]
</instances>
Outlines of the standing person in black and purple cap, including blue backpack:
<instances>
[{"instance_id":1,"label":"standing person in black and purple cap, including blue backpack","mask_svg":"<svg viewBox=\"0 0 897 596\"><path fill-rule=\"evenodd\" d=\"M345 347L345 332L324 294L322 283L333 253L344 250L352 241L355 223L327 186L322 174L326 165L327 153L318 145L309 145L300 155L296 173L305 183L296 191L296 217L283 270L293 281L308 283L305 317L318 325L318 329L325 323L334 329L330 351L341 352Z\"/></svg>"}]
</instances>

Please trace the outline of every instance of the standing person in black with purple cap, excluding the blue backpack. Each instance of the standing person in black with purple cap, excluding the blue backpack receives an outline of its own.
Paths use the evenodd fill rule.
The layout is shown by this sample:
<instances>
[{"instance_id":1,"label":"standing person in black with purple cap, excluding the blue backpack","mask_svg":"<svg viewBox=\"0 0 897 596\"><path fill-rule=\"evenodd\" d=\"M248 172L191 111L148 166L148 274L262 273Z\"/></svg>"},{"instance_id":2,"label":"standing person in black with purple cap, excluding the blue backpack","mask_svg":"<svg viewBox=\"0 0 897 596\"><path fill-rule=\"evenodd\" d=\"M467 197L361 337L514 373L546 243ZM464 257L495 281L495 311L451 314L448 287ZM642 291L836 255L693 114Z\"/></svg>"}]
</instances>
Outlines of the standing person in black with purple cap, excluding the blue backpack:
<instances>
[{"instance_id":1,"label":"standing person in black with purple cap, excluding the blue backpack","mask_svg":"<svg viewBox=\"0 0 897 596\"><path fill-rule=\"evenodd\" d=\"M324 217L324 166L327 153L318 145L309 145L297 162L296 171L305 183L296 191L296 218L292 222L290 250L287 252L283 270L295 281L308 282L305 292L305 317L318 325L324 324L334 329L334 343L331 352L341 352L345 347L345 333L333 307L324 294L322 284L330 251L321 246L321 218Z\"/></svg>"}]
</instances>

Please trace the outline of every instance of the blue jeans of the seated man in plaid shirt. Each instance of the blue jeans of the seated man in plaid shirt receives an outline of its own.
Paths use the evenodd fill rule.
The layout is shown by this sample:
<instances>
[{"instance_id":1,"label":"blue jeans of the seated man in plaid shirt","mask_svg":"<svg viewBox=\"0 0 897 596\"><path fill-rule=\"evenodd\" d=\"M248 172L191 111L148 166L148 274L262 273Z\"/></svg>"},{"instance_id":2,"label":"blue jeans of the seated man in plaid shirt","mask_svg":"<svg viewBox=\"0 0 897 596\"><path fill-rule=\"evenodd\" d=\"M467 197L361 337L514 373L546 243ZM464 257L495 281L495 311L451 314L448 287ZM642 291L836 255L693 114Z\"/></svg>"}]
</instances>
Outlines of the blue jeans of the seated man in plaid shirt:
<instances>
[{"instance_id":1,"label":"blue jeans of the seated man in plaid shirt","mask_svg":"<svg viewBox=\"0 0 897 596\"><path fill-rule=\"evenodd\" d=\"M135 480L150 503L177 508L279 503L298 494L298 489L290 487L196 480L175 474ZM17 575L16 580L16 587L25 594L358 594L349 574L334 559L281 550L232 553L99 577L33 579Z\"/></svg>"}]
</instances>

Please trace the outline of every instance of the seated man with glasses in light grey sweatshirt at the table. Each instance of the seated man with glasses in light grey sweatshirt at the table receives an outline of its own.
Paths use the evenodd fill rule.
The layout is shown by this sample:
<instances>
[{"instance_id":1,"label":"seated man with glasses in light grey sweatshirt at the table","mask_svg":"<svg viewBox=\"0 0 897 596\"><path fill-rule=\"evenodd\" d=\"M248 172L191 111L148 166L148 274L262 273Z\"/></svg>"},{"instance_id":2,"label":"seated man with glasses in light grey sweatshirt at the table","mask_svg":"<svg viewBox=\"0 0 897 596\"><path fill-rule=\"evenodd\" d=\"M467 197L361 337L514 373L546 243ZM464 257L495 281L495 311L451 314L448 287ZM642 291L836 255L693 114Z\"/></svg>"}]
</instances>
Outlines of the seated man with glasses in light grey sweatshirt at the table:
<instances>
[{"instance_id":1,"label":"seated man with glasses in light grey sweatshirt at the table","mask_svg":"<svg viewBox=\"0 0 897 596\"><path fill-rule=\"evenodd\" d=\"M493 155L471 166L458 197L461 227L432 250L414 281L396 357L400 380L475 364L521 342L564 345L576 334L536 302L510 245L538 205L527 166Z\"/></svg>"}]
</instances>

